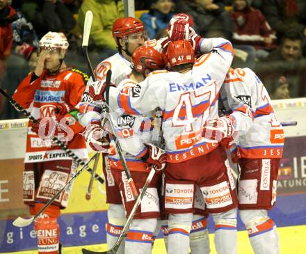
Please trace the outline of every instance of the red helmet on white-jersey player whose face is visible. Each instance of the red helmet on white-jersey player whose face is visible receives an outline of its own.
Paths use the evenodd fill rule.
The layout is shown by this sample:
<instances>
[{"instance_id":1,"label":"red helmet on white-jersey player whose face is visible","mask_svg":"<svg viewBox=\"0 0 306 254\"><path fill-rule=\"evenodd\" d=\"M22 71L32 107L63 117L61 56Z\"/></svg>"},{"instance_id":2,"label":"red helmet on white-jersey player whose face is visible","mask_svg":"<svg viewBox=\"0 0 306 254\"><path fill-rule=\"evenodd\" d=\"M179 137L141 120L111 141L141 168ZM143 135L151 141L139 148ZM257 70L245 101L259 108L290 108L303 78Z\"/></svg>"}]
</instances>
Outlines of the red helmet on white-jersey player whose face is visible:
<instances>
[{"instance_id":1,"label":"red helmet on white-jersey player whose face is visible","mask_svg":"<svg viewBox=\"0 0 306 254\"><path fill-rule=\"evenodd\" d=\"M144 32L143 23L134 17L120 17L113 23L113 38L118 43L118 38L122 38L132 33Z\"/></svg>"}]
</instances>

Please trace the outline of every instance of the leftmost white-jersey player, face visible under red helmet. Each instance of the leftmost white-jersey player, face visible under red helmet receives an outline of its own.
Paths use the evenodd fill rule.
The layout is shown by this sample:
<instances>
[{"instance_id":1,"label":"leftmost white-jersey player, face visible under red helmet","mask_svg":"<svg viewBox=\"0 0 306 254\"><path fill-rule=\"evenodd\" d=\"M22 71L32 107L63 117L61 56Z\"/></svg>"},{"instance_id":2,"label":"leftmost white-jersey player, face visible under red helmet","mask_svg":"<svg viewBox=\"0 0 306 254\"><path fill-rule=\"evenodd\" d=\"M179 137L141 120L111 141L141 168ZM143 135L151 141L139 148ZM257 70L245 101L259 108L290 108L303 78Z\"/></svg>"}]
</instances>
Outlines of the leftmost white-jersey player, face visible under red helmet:
<instances>
[{"instance_id":1,"label":"leftmost white-jersey player, face visible under red helmet","mask_svg":"<svg viewBox=\"0 0 306 254\"><path fill-rule=\"evenodd\" d=\"M145 27L140 20L134 17L122 17L116 19L113 24L113 38L118 46L118 53L106 58L95 68L95 76L97 80L104 80L106 72L112 70L111 83L117 86L120 81L126 79L131 74L131 55L137 47L145 43ZM90 83L89 83L90 84ZM90 146L95 149L102 145L99 140L99 132L102 131L99 119L102 112L102 104L94 102L89 95L89 84L83 93L82 102L79 104L79 122L86 127L85 137ZM97 121L98 119L98 121ZM107 142L103 143L104 148ZM106 178L106 203L108 207L108 224L106 225L106 241L108 248L111 248L118 239L120 232L125 224L126 217L122 200L120 196L120 189L108 165L108 159L104 156L104 175ZM124 253L124 241L122 242L118 254Z\"/></svg>"}]
</instances>

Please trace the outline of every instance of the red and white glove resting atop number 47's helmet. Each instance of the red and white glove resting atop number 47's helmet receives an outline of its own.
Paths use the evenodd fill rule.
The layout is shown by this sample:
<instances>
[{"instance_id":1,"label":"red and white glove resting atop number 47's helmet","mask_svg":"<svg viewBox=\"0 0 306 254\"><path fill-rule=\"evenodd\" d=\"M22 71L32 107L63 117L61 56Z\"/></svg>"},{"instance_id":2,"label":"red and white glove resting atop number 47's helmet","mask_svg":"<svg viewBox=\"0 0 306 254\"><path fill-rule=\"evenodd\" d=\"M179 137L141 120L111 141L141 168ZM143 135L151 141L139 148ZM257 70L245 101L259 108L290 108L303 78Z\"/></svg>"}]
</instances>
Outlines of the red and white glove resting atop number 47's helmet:
<instances>
[{"instance_id":1,"label":"red and white glove resting atop number 47's helmet","mask_svg":"<svg viewBox=\"0 0 306 254\"><path fill-rule=\"evenodd\" d=\"M188 40L189 27L193 25L193 20L189 15L179 13L170 19L168 24L168 37L172 41Z\"/></svg>"}]
</instances>

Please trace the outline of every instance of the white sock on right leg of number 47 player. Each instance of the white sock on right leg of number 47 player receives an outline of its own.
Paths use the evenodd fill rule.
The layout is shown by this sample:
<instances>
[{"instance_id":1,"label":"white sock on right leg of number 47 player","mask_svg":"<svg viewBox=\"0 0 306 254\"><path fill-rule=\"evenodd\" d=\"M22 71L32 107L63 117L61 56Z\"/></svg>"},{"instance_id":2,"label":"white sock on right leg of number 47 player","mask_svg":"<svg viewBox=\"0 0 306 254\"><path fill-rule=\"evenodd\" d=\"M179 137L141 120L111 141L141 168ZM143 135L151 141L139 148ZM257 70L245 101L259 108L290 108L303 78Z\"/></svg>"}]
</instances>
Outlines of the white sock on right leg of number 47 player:
<instances>
[{"instance_id":1,"label":"white sock on right leg of number 47 player","mask_svg":"<svg viewBox=\"0 0 306 254\"><path fill-rule=\"evenodd\" d=\"M215 222L214 242L218 254L237 253L236 209L212 214Z\"/></svg>"}]
</instances>

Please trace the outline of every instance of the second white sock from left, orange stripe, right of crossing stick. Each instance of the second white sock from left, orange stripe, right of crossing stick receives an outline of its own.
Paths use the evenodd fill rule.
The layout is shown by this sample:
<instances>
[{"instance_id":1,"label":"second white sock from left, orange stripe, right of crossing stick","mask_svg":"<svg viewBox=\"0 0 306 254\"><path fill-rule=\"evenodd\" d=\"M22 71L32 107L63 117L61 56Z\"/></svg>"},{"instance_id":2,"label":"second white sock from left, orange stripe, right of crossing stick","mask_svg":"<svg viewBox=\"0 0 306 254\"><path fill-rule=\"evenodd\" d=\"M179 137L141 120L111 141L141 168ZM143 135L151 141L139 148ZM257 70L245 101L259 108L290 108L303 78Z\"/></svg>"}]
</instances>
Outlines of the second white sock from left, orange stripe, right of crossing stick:
<instances>
[{"instance_id":1,"label":"second white sock from left, orange stripe, right of crossing stick","mask_svg":"<svg viewBox=\"0 0 306 254\"><path fill-rule=\"evenodd\" d=\"M150 254L157 219L135 219L127 232L125 254Z\"/></svg>"}]
</instances>

